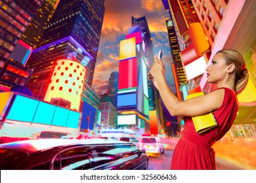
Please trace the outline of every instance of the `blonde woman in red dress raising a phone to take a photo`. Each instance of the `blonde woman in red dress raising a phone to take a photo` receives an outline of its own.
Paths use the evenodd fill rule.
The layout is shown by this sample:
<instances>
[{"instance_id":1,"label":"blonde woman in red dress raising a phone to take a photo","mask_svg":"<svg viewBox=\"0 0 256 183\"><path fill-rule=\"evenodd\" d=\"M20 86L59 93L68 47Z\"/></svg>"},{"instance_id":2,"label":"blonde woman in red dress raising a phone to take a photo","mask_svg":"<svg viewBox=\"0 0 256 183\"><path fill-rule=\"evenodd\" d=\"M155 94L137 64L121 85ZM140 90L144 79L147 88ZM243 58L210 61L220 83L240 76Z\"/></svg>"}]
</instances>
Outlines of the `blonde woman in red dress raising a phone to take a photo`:
<instances>
[{"instance_id":1,"label":"blonde woman in red dress raising a phone to take a photo","mask_svg":"<svg viewBox=\"0 0 256 183\"><path fill-rule=\"evenodd\" d=\"M161 59L154 61L151 67L150 77L167 110L172 116L184 116L184 129L173 153L171 169L216 169L215 152L211 146L225 135L236 118L239 108L236 94L244 89L249 77L243 56L236 50L220 50L206 71L208 82L217 84L217 90L180 101L165 80ZM218 126L202 134L196 133L191 116L210 111Z\"/></svg>"}]
</instances>

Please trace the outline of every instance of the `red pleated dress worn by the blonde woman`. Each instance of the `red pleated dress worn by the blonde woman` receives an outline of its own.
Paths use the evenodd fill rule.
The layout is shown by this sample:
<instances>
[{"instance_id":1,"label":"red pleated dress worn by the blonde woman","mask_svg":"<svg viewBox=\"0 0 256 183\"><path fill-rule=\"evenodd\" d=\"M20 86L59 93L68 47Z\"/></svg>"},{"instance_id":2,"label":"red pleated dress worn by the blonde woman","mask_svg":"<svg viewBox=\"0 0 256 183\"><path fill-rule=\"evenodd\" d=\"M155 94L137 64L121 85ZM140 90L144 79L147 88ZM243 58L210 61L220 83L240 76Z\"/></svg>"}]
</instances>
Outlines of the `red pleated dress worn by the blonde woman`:
<instances>
[{"instance_id":1,"label":"red pleated dress worn by the blonde woman","mask_svg":"<svg viewBox=\"0 0 256 183\"><path fill-rule=\"evenodd\" d=\"M219 90L221 88L218 88ZM184 117L182 137L177 143L171 161L172 170L214 170L215 152L211 146L219 141L230 129L238 111L236 93L224 88L221 107L213 112L218 126L198 134L191 117Z\"/></svg>"}]
</instances>

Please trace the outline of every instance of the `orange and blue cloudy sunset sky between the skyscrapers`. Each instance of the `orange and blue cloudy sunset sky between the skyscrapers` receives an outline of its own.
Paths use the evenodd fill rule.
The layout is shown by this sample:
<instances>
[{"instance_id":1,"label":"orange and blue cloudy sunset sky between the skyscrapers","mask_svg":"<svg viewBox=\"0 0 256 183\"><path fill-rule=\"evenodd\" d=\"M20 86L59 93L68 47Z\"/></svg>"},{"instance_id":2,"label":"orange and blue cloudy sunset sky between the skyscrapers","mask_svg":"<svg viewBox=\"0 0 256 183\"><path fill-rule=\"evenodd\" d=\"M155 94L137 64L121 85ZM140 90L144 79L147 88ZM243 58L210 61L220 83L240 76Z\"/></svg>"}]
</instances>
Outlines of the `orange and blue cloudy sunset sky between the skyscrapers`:
<instances>
[{"instance_id":1,"label":"orange and blue cloudy sunset sky between the skyscrapers","mask_svg":"<svg viewBox=\"0 0 256 183\"><path fill-rule=\"evenodd\" d=\"M171 49L167 37L165 20L169 12L165 11L161 0L105 0L105 14L96 58L93 90L100 95L108 92L110 74L118 72L119 42L125 39L131 27L131 16L146 16L152 37L155 58L161 49L165 64L165 78L171 88L175 88L171 72ZM174 89L175 90L175 89Z\"/></svg>"}]
</instances>

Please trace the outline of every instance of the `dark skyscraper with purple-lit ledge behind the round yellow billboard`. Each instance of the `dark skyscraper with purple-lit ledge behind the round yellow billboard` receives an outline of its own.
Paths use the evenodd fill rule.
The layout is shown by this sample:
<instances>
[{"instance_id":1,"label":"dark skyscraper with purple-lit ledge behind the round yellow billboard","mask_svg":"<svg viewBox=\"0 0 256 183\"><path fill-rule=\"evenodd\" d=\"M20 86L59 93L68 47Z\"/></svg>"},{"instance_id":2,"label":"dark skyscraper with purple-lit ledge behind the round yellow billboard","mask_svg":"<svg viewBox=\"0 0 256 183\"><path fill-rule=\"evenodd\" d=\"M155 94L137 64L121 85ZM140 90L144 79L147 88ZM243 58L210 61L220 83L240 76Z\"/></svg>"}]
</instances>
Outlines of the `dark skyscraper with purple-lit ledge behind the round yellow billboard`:
<instances>
[{"instance_id":1,"label":"dark skyscraper with purple-lit ledge behind the round yellow billboard","mask_svg":"<svg viewBox=\"0 0 256 183\"><path fill-rule=\"evenodd\" d=\"M57 59L73 59L87 69L85 82L91 87L98 42L104 16L104 0L62 0L45 27L39 48L28 65L33 69L28 86L35 97L43 97ZM38 84L41 82L41 84Z\"/></svg>"}]
</instances>

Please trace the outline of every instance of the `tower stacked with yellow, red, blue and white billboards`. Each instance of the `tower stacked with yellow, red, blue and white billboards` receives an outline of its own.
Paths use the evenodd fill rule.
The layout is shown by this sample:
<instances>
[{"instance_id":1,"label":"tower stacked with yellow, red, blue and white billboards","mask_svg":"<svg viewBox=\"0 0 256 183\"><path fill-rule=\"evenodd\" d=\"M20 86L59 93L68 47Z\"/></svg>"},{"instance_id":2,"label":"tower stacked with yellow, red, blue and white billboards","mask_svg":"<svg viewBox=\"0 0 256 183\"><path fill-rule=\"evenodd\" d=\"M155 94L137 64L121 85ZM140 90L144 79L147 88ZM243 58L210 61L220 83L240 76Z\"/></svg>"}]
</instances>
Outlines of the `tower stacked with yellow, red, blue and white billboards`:
<instances>
[{"instance_id":1,"label":"tower stacked with yellow, red, blue and white billboards","mask_svg":"<svg viewBox=\"0 0 256 183\"><path fill-rule=\"evenodd\" d=\"M129 125L137 134L150 133L148 83L142 33L139 26L129 28L120 41L117 94L117 125Z\"/></svg>"}]
</instances>

